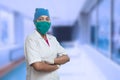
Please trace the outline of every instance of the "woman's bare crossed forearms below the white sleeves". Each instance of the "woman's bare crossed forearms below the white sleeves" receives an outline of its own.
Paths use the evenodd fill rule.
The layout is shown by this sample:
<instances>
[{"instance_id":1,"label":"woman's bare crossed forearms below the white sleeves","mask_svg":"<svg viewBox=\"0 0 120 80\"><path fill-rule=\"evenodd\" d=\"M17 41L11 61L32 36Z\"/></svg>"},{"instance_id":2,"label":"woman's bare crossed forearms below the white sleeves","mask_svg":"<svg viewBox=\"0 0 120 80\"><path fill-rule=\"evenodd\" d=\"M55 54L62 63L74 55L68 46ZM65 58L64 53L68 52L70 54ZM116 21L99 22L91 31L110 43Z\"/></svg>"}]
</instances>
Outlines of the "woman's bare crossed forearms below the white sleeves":
<instances>
[{"instance_id":1,"label":"woman's bare crossed forearms below the white sleeves","mask_svg":"<svg viewBox=\"0 0 120 80\"><path fill-rule=\"evenodd\" d=\"M46 62L36 62L36 63L33 63L31 66L36 71L51 72L59 68L57 65L65 64L69 60L70 59L67 55L63 55L63 56L55 58L54 64L48 64Z\"/></svg>"}]
</instances>

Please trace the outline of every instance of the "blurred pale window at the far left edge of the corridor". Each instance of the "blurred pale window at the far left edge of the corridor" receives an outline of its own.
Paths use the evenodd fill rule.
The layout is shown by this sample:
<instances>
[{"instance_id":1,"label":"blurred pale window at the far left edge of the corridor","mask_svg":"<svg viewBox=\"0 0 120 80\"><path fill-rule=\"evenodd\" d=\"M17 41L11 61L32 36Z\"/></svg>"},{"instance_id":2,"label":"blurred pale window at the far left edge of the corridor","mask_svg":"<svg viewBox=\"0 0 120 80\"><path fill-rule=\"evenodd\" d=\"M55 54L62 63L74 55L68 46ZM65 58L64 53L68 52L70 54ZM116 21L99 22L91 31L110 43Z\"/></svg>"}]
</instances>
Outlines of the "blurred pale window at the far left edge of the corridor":
<instances>
[{"instance_id":1,"label":"blurred pale window at the far left edge of the corridor","mask_svg":"<svg viewBox=\"0 0 120 80\"><path fill-rule=\"evenodd\" d=\"M0 10L0 47L14 43L13 13Z\"/></svg>"}]
</instances>

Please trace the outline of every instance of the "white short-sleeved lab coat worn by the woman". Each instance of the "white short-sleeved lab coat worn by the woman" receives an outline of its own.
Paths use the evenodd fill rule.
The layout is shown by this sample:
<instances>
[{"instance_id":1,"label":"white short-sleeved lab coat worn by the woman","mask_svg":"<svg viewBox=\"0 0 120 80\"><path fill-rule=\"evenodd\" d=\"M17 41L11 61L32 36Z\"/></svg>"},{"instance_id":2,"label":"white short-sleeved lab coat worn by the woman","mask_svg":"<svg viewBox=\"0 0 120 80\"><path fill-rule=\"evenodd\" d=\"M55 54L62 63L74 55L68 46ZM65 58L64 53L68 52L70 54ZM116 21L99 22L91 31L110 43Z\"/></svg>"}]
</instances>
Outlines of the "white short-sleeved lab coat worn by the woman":
<instances>
[{"instance_id":1,"label":"white short-sleeved lab coat worn by the woman","mask_svg":"<svg viewBox=\"0 0 120 80\"><path fill-rule=\"evenodd\" d=\"M38 72L30 66L32 63L40 62L44 59L54 59L57 55L66 54L64 48L54 36L47 34L47 39L50 46L36 30L26 38L27 80L59 80L57 70L53 72Z\"/></svg>"}]
</instances>

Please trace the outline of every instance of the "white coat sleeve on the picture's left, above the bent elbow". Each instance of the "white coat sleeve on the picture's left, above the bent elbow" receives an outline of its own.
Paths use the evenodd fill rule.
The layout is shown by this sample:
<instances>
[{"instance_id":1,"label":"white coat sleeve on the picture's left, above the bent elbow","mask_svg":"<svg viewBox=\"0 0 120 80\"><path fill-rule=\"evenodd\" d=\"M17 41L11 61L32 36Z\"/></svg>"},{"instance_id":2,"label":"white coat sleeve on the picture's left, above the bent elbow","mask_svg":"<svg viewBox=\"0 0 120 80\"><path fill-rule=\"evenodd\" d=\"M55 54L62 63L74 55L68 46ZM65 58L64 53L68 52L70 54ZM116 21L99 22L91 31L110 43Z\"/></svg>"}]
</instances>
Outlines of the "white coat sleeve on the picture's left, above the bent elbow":
<instances>
[{"instance_id":1,"label":"white coat sleeve on the picture's left, above the bent elbow","mask_svg":"<svg viewBox=\"0 0 120 80\"><path fill-rule=\"evenodd\" d=\"M25 57L29 65L35 62L42 61L36 46L37 44L35 43L35 40L29 39L29 38L26 39Z\"/></svg>"}]
</instances>

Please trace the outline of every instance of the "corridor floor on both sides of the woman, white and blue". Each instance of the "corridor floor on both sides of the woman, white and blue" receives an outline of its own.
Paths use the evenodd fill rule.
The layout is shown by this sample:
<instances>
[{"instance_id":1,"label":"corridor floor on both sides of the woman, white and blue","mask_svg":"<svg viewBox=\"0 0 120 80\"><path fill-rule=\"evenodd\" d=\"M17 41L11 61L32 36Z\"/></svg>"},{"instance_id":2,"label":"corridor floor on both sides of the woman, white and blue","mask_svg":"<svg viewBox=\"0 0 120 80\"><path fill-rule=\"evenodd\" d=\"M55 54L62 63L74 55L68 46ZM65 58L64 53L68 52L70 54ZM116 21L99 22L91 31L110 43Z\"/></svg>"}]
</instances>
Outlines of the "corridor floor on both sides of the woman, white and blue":
<instances>
[{"instance_id":1,"label":"corridor floor on both sides of the woman, white and blue","mask_svg":"<svg viewBox=\"0 0 120 80\"><path fill-rule=\"evenodd\" d=\"M70 62L58 70L60 80L107 80L80 46L66 47ZM26 65L23 62L0 80L25 80Z\"/></svg>"}]
</instances>

